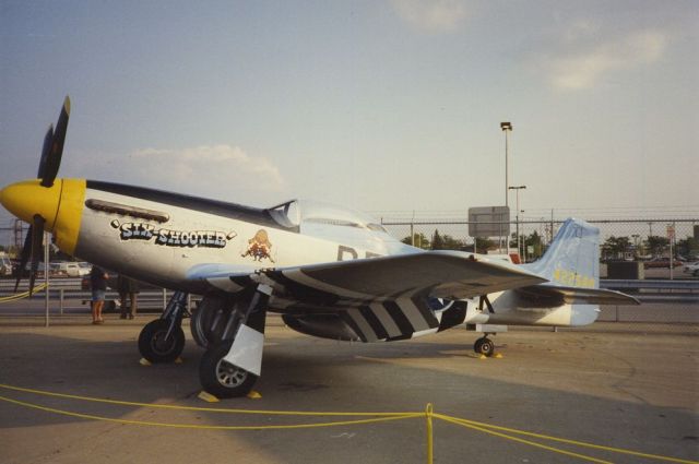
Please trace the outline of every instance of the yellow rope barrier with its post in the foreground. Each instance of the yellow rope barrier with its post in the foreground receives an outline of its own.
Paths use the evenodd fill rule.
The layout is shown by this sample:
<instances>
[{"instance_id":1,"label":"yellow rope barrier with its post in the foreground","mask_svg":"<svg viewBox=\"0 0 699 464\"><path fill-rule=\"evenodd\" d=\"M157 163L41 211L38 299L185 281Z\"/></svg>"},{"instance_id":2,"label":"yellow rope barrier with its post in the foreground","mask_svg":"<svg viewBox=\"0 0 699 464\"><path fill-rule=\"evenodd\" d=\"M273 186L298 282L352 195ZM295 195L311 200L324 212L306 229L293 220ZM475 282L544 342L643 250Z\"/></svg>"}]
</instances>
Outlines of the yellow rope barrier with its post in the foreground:
<instances>
[{"instance_id":1,"label":"yellow rope barrier with its post in the foreground","mask_svg":"<svg viewBox=\"0 0 699 464\"><path fill-rule=\"evenodd\" d=\"M581 460L587 460L593 463L603 463L607 464L608 461L600 460L596 457L592 457L585 454L574 453L567 450L561 450L558 448L549 447L546 444L542 444L535 441L526 440L520 437L514 437L513 435L520 435L524 437L536 438L540 440L549 440L560 443L566 443L576 447L590 448L599 451L606 451L611 453L620 453L627 455L633 455L638 457L652 459L657 461L665 461L672 463L683 463L683 464L699 464L698 461L689 461L682 460L677 457L670 456L661 456L656 454L648 454L641 453L631 450L625 450L619 448L604 447L593 443L587 443L582 441L569 440L564 438L550 437L542 433L534 433L524 430L518 430L507 427L500 427L484 423L478 423L475 420L463 419L459 417L447 416L443 414L436 414L433 409L433 405L427 404L425 412L422 413L322 413L322 412L294 412L294 411L250 411L250 409L225 409L225 408L211 408L211 407L196 407L196 406L180 406L180 405L167 405L167 404L152 404L152 403L138 403L138 402L127 402L127 401L118 401L118 400L106 400L106 398L96 398L90 396L79 396L66 393L55 393L47 392L43 390L35 389L25 389L21 386L13 386L8 384L0 383L0 389L11 390L23 393L31 393L44 396L51 397L62 397L68 400L75 401L84 401L84 402L94 402L94 403L105 403L105 404L114 404L119 406L132 406L132 407L150 407L150 408L163 408L163 409L174 409L174 411L197 411L197 412L208 412L208 413L227 413L227 414L249 414L249 415L276 415L276 416L355 416L355 417L368 417L363 419L355 420L339 420L331 423L316 423L316 424L293 424L293 425L271 425L271 426L210 426L210 425L201 425L201 424L171 424L171 423L155 423L155 421L145 421L145 420L131 420L131 419L120 419L112 417L104 417L96 416L91 414L83 413L74 413L71 411L59 409L54 407L47 407L34 403L28 403L15 398L10 398L7 396L0 396L0 401L4 401L8 403L16 404L20 406L44 411L48 413L60 414L64 416L78 417L90 420L103 420L110 423L119 423L119 424L129 424L129 425L139 425L139 426L153 426L153 427L170 427L170 428L187 428L187 429L204 429L204 430L285 430L285 429L310 429L310 428L320 428L320 427L337 427L337 426L351 426L351 425L364 425L364 424L377 424L377 423L387 423L393 420L404 420L412 419L415 417L425 417L427 425L427 463L433 463L433 454L434 454L434 439L433 439L433 418L437 418L450 424L454 424L461 427L465 427L472 430L477 430L484 433L489 433L495 437L503 438L506 440L511 440L514 442L519 442L522 444L528 444L530 447L535 447L538 449L543 449L546 451L550 451L554 453L564 454L570 457L577 457Z\"/></svg>"}]
</instances>

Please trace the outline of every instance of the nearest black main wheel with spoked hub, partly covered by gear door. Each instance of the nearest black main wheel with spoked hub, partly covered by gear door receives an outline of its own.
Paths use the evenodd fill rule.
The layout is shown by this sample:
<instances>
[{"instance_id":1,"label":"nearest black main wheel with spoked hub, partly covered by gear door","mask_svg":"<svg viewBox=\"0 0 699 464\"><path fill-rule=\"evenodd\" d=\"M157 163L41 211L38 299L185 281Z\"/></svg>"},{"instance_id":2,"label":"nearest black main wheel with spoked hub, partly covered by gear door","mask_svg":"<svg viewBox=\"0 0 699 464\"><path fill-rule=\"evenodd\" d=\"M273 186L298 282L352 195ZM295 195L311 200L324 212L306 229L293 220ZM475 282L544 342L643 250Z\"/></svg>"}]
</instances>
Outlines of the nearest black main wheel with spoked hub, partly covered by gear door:
<instances>
[{"instance_id":1,"label":"nearest black main wheel with spoked hub, partly covered by gear door","mask_svg":"<svg viewBox=\"0 0 699 464\"><path fill-rule=\"evenodd\" d=\"M230 343L204 352L199 362L199 380L205 391L216 397L237 397L250 393L258 376L223 360Z\"/></svg>"}]
</instances>

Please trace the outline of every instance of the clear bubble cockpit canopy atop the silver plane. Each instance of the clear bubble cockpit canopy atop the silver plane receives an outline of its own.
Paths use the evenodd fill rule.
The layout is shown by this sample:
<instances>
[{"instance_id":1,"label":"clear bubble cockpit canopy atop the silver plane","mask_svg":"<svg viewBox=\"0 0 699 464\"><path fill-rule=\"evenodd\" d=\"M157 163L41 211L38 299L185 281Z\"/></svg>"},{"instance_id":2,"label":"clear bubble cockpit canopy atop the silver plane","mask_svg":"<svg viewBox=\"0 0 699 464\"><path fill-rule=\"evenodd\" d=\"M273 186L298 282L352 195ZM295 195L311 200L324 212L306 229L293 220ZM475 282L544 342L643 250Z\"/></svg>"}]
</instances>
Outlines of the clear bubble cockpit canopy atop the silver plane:
<instances>
[{"instance_id":1,"label":"clear bubble cockpit canopy atop the silver plane","mask_svg":"<svg viewBox=\"0 0 699 464\"><path fill-rule=\"evenodd\" d=\"M292 200L268 211L280 225L304 235L380 255L403 248L381 224L356 211L308 200Z\"/></svg>"}]
</instances>

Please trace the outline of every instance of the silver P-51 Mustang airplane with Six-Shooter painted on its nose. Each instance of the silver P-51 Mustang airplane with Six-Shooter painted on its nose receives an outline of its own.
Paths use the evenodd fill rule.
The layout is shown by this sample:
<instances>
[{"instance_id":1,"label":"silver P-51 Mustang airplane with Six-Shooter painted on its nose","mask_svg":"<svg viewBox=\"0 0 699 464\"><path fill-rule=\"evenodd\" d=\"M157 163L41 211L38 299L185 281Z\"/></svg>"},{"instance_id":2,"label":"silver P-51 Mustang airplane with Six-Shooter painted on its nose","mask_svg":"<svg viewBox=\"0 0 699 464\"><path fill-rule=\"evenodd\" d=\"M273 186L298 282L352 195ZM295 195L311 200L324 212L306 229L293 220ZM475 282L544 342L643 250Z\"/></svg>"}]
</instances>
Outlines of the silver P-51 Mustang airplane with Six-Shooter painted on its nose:
<instances>
[{"instance_id":1,"label":"silver P-51 Mustang airplane with Six-Shooter painted on its nose","mask_svg":"<svg viewBox=\"0 0 699 464\"><path fill-rule=\"evenodd\" d=\"M31 224L20 269L31 258L32 288L47 230L71 255L176 290L139 336L153 362L180 355L186 296L202 295L190 325L206 349L201 383L217 396L245 395L260 376L268 311L308 335L392 342L464 324L584 325L601 304L638 304L599 288L599 230L582 221L568 219L540 261L514 265L413 248L359 214L319 203L262 210L57 179L69 114L66 97L38 178L0 191L4 207ZM475 350L493 354L487 333Z\"/></svg>"}]
</instances>

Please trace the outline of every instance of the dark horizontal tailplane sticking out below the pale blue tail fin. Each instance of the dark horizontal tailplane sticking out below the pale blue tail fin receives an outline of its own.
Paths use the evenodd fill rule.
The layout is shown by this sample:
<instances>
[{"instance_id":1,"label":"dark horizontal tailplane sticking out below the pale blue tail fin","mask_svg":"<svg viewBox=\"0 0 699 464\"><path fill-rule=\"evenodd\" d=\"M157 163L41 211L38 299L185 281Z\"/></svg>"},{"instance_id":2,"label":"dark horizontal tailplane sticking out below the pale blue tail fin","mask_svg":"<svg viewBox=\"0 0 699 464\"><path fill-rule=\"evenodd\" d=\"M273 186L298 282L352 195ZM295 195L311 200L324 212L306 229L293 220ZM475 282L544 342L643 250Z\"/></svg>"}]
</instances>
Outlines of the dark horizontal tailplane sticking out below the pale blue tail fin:
<instances>
[{"instance_id":1,"label":"dark horizontal tailplane sticking out below the pale blue tail fin","mask_svg":"<svg viewBox=\"0 0 699 464\"><path fill-rule=\"evenodd\" d=\"M565 287L543 284L518 288L517 293L534 301L576 305L640 305L632 296L602 288Z\"/></svg>"}]
</instances>

